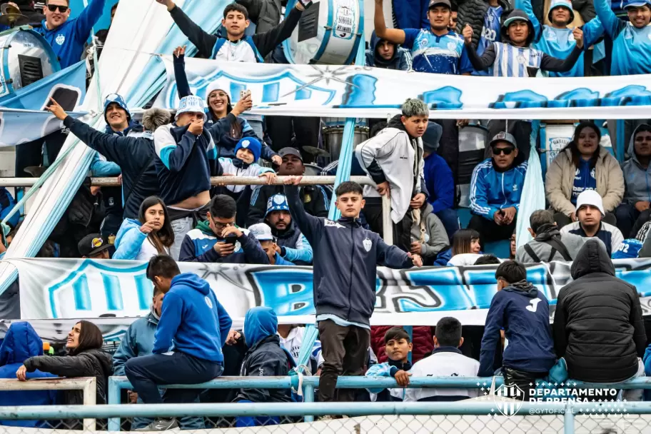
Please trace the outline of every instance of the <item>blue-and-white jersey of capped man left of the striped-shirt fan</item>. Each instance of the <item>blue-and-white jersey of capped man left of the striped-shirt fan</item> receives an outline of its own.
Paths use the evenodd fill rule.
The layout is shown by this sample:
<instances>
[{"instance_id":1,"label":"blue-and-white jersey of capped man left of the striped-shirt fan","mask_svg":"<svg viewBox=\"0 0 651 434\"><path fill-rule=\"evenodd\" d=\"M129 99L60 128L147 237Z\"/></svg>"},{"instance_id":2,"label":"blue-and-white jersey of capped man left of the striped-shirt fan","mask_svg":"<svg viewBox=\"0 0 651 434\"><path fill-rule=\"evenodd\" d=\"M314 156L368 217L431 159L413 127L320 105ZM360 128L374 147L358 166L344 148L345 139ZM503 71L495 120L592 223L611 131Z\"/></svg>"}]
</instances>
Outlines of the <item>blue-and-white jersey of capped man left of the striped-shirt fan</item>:
<instances>
[{"instance_id":1,"label":"blue-and-white jersey of capped man left of the striped-shirt fan","mask_svg":"<svg viewBox=\"0 0 651 434\"><path fill-rule=\"evenodd\" d=\"M455 32L436 36L430 29L404 31L403 47L411 50L414 71L455 75L473 71L463 38Z\"/></svg>"}]
</instances>

